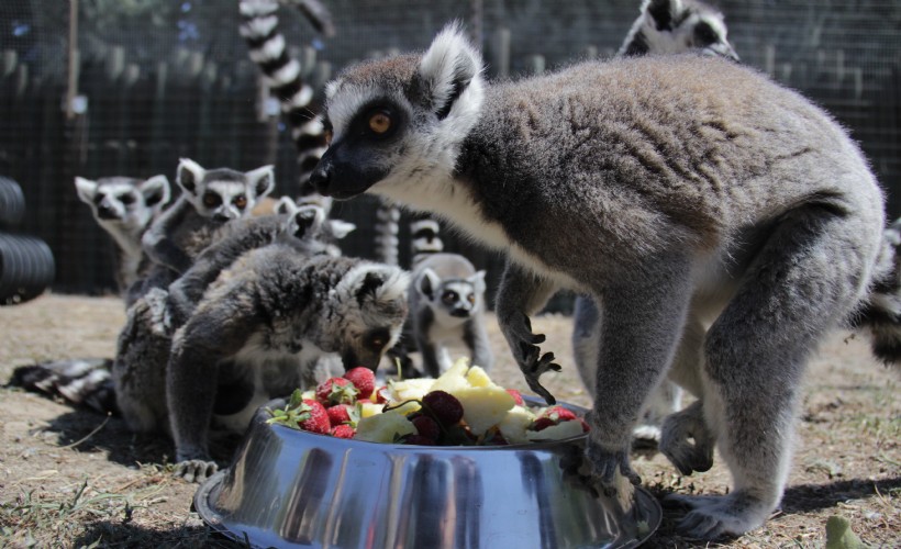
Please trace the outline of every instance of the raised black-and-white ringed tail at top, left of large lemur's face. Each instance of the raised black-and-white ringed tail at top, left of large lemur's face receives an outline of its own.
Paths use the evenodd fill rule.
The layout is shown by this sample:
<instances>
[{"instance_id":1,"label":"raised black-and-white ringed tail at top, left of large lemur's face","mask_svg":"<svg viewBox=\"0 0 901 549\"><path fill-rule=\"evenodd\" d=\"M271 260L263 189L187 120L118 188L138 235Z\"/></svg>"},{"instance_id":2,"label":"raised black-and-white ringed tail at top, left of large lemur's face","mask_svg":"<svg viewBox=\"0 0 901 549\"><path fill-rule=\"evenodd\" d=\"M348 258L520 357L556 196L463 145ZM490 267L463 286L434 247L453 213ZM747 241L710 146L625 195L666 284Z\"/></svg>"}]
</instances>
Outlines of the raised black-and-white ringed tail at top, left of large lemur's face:
<instances>
[{"instance_id":1,"label":"raised black-and-white ringed tail at top, left of large lemur's face","mask_svg":"<svg viewBox=\"0 0 901 549\"><path fill-rule=\"evenodd\" d=\"M316 0L282 0L298 8L316 31L334 34L332 16ZM312 108L314 91L304 81L309 67L301 67L288 52L278 26L278 0L241 0L241 35L247 42L249 56L268 80L270 92L281 103L281 113L291 130L298 152L300 195L315 192L310 173L325 152L326 135L322 120Z\"/></svg>"}]
</instances>

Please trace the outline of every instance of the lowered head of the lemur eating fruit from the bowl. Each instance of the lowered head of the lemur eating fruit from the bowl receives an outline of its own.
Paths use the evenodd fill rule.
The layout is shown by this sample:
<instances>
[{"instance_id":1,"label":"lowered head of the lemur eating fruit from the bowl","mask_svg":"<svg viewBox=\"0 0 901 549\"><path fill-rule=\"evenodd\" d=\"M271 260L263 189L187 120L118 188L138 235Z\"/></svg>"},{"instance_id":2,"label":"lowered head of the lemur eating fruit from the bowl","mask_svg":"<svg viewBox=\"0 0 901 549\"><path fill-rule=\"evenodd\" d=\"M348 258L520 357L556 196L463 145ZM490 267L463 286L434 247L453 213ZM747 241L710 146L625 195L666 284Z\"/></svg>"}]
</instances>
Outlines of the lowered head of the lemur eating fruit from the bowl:
<instances>
[{"instance_id":1,"label":"lowered head of the lemur eating fruit from the bowl","mask_svg":"<svg viewBox=\"0 0 901 549\"><path fill-rule=\"evenodd\" d=\"M409 284L409 274L398 267L369 261L352 267L329 295L331 314L322 334L335 340L322 348L338 352L345 369L375 371L400 337Z\"/></svg>"}]
</instances>

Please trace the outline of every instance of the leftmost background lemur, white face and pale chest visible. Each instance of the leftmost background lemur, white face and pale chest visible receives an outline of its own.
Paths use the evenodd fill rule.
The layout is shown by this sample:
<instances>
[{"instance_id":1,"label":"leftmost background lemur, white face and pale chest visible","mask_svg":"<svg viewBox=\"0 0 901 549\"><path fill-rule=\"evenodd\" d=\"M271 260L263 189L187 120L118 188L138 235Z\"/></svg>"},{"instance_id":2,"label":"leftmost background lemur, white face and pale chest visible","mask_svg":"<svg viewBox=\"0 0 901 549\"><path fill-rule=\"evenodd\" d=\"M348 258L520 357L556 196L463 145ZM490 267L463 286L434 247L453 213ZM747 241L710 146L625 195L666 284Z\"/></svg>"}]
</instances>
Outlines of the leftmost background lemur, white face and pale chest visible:
<instances>
[{"instance_id":1,"label":"leftmost background lemur, white face and pale chest visible","mask_svg":"<svg viewBox=\"0 0 901 549\"><path fill-rule=\"evenodd\" d=\"M107 177L97 181L76 177L75 188L78 198L91 208L93 219L118 245L116 283L131 304L129 289L147 267L141 237L169 202L169 180L166 176Z\"/></svg>"}]
</instances>

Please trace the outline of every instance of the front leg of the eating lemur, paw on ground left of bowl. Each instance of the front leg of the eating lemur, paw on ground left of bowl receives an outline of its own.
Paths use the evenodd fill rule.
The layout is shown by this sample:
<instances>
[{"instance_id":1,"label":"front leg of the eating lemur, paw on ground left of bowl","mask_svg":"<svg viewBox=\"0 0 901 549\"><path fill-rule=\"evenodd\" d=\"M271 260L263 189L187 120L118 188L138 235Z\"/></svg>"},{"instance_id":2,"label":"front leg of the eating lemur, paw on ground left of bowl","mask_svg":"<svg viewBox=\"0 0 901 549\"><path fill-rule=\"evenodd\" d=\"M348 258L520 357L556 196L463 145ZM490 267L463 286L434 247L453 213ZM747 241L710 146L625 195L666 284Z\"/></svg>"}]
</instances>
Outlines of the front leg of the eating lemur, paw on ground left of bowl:
<instances>
[{"instance_id":1,"label":"front leg of the eating lemur, paw on ground left of bowl","mask_svg":"<svg viewBox=\"0 0 901 549\"><path fill-rule=\"evenodd\" d=\"M176 447L175 475L200 482L216 471L209 452L210 422L221 360L246 343L257 318L247 298L214 292L176 332L166 372L169 423ZM245 288L233 294L249 294ZM238 304L238 306L235 306Z\"/></svg>"}]
</instances>

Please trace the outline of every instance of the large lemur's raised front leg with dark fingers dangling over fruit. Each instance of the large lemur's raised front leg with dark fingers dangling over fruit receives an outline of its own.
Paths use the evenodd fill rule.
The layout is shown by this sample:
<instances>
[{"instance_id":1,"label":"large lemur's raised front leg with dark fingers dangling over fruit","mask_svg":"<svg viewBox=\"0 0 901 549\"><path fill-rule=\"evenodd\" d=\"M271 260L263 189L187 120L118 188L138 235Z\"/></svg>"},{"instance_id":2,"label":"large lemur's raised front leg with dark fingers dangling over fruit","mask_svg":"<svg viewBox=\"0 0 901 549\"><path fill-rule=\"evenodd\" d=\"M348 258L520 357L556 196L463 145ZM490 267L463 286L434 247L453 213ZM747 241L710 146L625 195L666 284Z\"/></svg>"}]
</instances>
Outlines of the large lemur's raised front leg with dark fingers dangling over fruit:
<instances>
[{"instance_id":1,"label":"large lemur's raised front leg with dark fingers dangling over fruit","mask_svg":"<svg viewBox=\"0 0 901 549\"><path fill-rule=\"evenodd\" d=\"M538 278L508 259L496 305L501 333L507 338L525 381L548 404L554 404L557 400L538 379L548 370L560 371L560 366L554 362L553 352L542 355L538 344L544 343L545 336L532 332L529 315L544 306L556 290L557 287L552 281Z\"/></svg>"}]
</instances>

